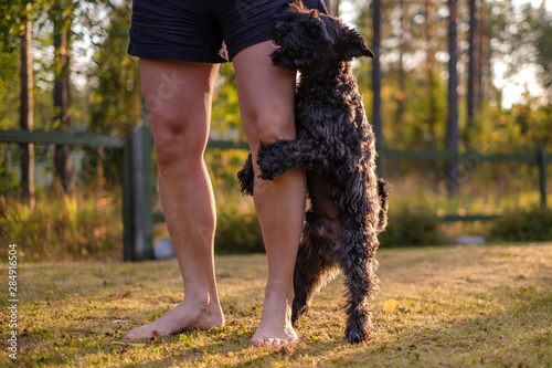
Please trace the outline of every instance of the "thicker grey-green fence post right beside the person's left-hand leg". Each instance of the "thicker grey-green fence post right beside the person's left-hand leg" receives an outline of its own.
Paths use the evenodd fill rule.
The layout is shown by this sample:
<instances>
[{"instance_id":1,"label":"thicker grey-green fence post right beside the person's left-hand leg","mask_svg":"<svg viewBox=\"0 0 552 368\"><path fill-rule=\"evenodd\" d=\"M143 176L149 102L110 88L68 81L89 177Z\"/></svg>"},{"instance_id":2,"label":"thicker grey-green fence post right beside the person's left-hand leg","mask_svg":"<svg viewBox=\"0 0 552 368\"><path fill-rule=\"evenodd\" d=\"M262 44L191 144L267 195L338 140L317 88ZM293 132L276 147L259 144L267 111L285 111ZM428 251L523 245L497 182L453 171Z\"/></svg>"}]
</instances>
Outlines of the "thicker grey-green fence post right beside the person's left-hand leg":
<instances>
[{"instance_id":1,"label":"thicker grey-green fence post right beside the person's left-hand leg","mask_svg":"<svg viewBox=\"0 0 552 368\"><path fill-rule=\"evenodd\" d=\"M136 259L153 256L153 221L151 214L151 128L140 125L132 129L135 251Z\"/></svg>"}]
</instances>

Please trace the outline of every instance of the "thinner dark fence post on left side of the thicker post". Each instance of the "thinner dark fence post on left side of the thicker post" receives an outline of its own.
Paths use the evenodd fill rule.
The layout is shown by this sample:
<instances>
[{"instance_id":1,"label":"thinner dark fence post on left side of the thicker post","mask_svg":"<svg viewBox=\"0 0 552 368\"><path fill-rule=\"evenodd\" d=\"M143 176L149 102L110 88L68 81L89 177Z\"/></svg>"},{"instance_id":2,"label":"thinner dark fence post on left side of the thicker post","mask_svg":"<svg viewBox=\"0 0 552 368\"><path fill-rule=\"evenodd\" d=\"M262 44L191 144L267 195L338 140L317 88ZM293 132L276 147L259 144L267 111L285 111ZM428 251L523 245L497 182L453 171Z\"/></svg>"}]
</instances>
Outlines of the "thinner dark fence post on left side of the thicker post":
<instances>
[{"instance_id":1,"label":"thinner dark fence post on left side of the thicker post","mask_svg":"<svg viewBox=\"0 0 552 368\"><path fill-rule=\"evenodd\" d=\"M123 260L135 261L135 218L134 218L134 166L132 136L128 136L123 147Z\"/></svg>"}]
</instances>

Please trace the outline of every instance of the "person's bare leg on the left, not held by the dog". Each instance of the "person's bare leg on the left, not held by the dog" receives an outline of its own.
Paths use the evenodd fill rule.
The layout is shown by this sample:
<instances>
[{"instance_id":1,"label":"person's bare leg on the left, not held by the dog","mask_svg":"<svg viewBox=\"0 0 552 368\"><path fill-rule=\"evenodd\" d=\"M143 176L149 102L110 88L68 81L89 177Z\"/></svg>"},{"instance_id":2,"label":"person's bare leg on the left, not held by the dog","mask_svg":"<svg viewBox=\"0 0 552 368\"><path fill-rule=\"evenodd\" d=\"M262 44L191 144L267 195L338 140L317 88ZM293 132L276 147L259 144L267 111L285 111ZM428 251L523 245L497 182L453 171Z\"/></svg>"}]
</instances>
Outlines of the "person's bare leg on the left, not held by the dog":
<instances>
[{"instance_id":1,"label":"person's bare leg on the left, not held by the dog","mask_svg":"<svg viewBox=\"0 0 552 368\"><path fill-rule=\"evenodd\" d=\"M203 153L219 65L140 60L141 86L152 116L164 219L184 282L184 299L125 338L224 325L213 262L215 208Z\"/></svg>"}]
</instances>

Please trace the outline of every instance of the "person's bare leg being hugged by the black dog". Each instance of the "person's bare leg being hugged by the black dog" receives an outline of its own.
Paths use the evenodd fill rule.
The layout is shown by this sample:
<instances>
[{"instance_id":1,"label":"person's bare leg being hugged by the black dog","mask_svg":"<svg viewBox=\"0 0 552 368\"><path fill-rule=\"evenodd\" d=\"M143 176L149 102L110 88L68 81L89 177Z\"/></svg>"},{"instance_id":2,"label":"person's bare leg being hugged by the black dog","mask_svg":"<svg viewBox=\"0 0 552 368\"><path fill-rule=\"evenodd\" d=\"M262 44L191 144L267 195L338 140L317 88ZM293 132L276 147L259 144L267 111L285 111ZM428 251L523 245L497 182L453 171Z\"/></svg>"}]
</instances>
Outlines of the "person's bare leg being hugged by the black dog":
<instances>
[{"instance_id":1,"label":"person's bare leg being hugged by the black dog","mask_svg":"<svg viewBox=\"0 0 552 368\"><path fill-rule=\"evenodd\" d=\"M234 57L237 96L247 140L256 158L259 140L295 138L295 73L272 65L270 42L241 51ZM254 171L258 175L256 159ZM251 343L278 346L297 341L291 326L294 266L305 214L306 180L290 170L274 181L255 177L254 203L268 260L263 317Z\"/></svg>"}]
</instances>

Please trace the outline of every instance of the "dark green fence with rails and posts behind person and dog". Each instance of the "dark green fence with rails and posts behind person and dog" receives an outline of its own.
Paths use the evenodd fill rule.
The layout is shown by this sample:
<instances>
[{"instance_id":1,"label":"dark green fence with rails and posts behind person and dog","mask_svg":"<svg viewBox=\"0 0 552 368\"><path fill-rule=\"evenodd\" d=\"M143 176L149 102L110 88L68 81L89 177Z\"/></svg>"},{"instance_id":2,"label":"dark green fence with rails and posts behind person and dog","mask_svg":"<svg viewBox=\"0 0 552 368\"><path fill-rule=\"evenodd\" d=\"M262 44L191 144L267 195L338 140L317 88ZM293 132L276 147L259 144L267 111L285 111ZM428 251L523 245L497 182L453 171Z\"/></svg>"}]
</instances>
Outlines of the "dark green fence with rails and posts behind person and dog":
<instances>
[{"instance_id":1,"label":"dark green fence with rails and posts behind person and dog","mask_svg":"<svg viewBox=\"0 0 552 368\"><path fill-rule=\"evenodd\" d=\"M162 213L152 212L151 150L153 139L148 126L135 127L127 137L113 137L89 134L67 134L62 132L22 132L1 130L0 143L43 144L88 147L112 147L123 150L120 176L123 182L123 223L124 223L124 260L136 261L151 259L153 255L152 229L157 222L164 222ZM208 148L248 149L246 143L210 140ZM539 187L541 204L546 206L546 168L552 164L552 156L546 154L545 147L539 147L532 154L453 154L447 151L413 151L396 150L379 147L378 168L383 176L386 159L423 160L423 161L495 161L520 162L535 165L539 168ZM498 218L495 215L443 215L440 221L488 221Z\"/></svg>"}]
</instances>

